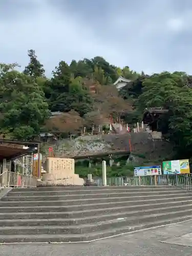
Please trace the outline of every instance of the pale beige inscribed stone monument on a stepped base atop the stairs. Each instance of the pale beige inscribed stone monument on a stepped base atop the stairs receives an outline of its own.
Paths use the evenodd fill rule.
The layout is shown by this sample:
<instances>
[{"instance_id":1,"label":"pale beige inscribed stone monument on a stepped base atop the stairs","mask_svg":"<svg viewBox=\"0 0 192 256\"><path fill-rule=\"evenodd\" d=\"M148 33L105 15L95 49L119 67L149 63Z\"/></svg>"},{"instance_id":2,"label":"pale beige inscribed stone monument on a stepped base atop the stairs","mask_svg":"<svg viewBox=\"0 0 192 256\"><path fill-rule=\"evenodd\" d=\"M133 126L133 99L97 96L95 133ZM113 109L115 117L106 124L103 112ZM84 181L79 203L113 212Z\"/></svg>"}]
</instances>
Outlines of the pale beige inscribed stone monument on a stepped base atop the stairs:
<instances>
[{"instance_id":1,"label":"pale beige inscribed stone monument on a stepped base atop the stairs","mask_svg":"<svg viewBox=\"0 0 192 256\"><path fill-rule=\"evenodd\" d=\"M48 157L46 160L46 172L42 174L42 180L39 182L41 186L84 185L84 180L79 178L78 174L75 174L74 159Z\"/></svg>"}]
</instances>

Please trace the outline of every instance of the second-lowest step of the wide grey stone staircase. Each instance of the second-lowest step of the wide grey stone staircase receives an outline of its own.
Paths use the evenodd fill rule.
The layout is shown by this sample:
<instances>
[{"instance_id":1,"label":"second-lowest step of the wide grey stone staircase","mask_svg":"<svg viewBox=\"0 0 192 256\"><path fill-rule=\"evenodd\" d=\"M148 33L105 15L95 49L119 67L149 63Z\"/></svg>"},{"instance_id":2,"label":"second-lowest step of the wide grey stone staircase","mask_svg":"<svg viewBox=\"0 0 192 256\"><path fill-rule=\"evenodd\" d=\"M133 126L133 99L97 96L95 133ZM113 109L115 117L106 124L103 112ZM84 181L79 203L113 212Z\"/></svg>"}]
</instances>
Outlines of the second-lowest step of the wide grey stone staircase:
<instances>
[{"instance_id":1,"label":"second-lowest step of the wide grey stone staircase","mask_svg":"<svg viewBox=\"0 0 192 256\"><path fill-rule=\"evenodd\" d=\"M81 234L81 233L89 233L93 231L100 231L109 228L120 228L124 226L136 225L147 223L148 221L155 222L161 220L167 220L167 218L176 218L183 216L190 216L192 213L191 209L181 210L177 212L165 212L164 214L152 214L147 216L139 216L135 218L134 216L129 218L117 218L113 220L107 221L98 221L96 223L88 223L81 225L61 225L61 222L57 222L57 225L45 225L45 226L11 226L11 227L1 227L0 235L4 234Z\"/></svg>"}]
</instances>

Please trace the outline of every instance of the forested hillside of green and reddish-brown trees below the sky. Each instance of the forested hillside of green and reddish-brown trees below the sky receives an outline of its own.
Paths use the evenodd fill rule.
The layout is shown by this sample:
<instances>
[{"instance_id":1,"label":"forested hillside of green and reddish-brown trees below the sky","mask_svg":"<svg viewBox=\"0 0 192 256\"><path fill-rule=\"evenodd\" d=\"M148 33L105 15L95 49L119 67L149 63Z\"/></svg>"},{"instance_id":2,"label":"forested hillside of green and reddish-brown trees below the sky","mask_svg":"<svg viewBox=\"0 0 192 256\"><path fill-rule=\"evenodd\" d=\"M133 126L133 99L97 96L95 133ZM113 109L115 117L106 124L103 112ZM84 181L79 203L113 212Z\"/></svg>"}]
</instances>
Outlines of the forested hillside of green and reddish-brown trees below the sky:
<instances>
[{"instance_id":1,"label":"forested hillside of green and reddish-brown trees below the sky","mask_svg":"<svg viewBox=\"0 0 192 256\"><path fill-rule=\"evenodd\" d=\"M17 63L0 64L1 134L33 139L40 132L78 132L82 125L101 124L112 115L125 122L141 120L148 107L168 107L159 130L182 157L192 154L191 76L184 72L147 75L128 66L115 67L102 57L64 60L45 76L34 50L23 72ZM129 63L127 63L129 64ZM130 79L119 92L113 83ZM60 117L50 121L50 112Z\"/></svg>"}]
</instances>

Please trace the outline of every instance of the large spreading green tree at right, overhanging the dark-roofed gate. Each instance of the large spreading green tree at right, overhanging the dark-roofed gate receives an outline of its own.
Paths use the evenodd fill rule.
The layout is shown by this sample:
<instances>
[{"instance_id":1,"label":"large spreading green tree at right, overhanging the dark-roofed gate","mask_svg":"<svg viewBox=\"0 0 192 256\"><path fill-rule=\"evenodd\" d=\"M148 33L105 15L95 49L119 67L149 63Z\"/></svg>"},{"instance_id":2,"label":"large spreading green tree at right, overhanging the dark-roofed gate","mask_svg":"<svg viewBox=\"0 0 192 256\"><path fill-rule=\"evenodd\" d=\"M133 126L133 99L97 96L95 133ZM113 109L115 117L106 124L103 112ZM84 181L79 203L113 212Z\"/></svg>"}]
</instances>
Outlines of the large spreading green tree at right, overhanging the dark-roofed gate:
<instances>
[{"instance_id":1,"label":"large spreading green tree at right, overhanging the dark-roofed gate","mask_svg":"<svg viewBox=\"0 0 192 256\"><path fill-rule=\"evenodd\" d=\"M170 142L174 143L180 158L192 154L192 90L188 77L182 72L162 72L143 81L143 93L138 98L138 108L166 107L169 113L160 120Z\"/></svg>"}]
</instances>

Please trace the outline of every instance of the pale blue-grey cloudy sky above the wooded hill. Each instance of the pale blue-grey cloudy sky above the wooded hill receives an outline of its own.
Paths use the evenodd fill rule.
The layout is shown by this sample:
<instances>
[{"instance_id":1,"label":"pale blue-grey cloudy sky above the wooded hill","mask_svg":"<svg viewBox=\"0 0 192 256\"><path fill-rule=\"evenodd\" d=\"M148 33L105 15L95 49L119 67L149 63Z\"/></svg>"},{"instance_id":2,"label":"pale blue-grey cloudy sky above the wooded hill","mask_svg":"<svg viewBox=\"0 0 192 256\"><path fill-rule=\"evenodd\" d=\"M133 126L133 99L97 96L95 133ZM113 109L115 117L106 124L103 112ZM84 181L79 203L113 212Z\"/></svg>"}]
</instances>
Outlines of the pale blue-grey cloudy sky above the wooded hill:
<instances>
[{"instance_id":1,"label":"pale blue-grey cloudy sky above the wooded hill","mask_svg":"<svg viewBox=\"0 0 192 256\"><path fill-rule=\"evenodd\" d=\"M34 49L48 76L60 60L94 56L192 74L191 27L191 0L1 0L0 62L25 67Z\"/></svg>"}]
</instances>

